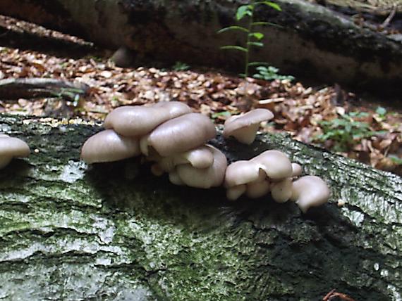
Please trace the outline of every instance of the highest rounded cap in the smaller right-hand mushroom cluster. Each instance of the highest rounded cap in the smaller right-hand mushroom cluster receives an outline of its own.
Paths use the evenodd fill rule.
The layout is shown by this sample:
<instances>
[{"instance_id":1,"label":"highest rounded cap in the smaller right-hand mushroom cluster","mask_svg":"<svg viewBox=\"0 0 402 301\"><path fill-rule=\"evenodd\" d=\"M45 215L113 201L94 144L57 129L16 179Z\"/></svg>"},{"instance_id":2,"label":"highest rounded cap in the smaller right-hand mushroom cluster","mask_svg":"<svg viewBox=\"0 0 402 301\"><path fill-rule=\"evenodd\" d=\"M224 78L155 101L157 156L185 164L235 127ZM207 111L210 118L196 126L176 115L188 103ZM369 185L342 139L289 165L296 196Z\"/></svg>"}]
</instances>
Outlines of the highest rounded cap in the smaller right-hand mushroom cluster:
<instances>
[{"instance_id":1,"label":"highest rounded cap in the smaller right-hand mushroom cluster","mask_svg":"<svg viewBox=\"0 0 402 301\"><path fill-rule=\"evenodd\" d=\"M292 175L291 161L281 151L264 151L250 161L257 163L270 179L285 179Z\"/></svg>"}]
</instances>

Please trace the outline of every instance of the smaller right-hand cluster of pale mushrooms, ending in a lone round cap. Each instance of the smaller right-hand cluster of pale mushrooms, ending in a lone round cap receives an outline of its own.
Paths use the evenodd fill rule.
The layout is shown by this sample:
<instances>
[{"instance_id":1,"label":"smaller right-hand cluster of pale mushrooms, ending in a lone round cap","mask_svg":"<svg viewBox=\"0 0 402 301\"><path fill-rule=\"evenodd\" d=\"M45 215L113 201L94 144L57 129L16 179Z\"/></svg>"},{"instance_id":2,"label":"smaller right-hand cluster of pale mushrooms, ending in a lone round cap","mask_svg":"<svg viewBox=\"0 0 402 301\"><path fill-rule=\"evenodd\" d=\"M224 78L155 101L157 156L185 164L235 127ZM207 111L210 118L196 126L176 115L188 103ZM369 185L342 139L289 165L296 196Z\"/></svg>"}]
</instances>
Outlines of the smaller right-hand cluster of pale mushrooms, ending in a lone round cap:
<instances>
[{"instance_id":1,"label":"smaller right-hand cluster of pale mushrooms, ending in a lone round cap","mask_svg":"<svg viewBox=\"0 0 402 301\"><path fill-rule=\"evenodd\" d=\"M291 163L281 151L270 150L250 160L233 162L226 169L226 197L237 200L245 193L248 198L260 198L271 192L277 203L293 200L306 212L322 205L329 198L329 188L319 177L305 176L302 167Z\"/></svg>"}]
</instances>

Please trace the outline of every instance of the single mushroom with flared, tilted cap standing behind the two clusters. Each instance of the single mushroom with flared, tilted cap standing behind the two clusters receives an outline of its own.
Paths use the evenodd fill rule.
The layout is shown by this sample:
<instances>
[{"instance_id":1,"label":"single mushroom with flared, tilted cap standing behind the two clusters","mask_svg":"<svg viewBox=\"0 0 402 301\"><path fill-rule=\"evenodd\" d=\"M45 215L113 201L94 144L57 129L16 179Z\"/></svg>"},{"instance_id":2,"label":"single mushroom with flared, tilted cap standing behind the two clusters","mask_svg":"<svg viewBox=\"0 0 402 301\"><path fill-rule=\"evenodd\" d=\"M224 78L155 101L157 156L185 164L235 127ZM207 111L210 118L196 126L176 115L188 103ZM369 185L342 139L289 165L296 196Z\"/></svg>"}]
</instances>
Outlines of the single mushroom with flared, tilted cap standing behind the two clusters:
<instances>
[{"instance_id":1,"label":"single mushroom with flared, tilted cap standing behind the two clusters","mask_svg":"<svg viewBox=\"0 0 402 301\"><path fill-rule=\"evenodd\" d=\"M224 124L224 137L233 136L241 143L251 144L260 122L271 120L273 117L274 114L267 109L255 109L244 115L232 116Z\"/></svg>"}]
</instances>

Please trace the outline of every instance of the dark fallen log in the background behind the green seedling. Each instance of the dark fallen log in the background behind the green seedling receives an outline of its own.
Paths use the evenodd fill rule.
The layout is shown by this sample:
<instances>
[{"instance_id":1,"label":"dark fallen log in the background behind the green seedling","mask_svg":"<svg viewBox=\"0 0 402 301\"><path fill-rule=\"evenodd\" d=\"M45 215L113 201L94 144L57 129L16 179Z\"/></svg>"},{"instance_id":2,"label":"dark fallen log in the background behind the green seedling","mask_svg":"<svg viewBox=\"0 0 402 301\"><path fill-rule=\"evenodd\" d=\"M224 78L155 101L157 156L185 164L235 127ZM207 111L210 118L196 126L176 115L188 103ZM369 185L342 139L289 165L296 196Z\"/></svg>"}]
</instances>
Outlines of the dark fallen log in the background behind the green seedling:
<instances>
[{"instance_id":1,"label":"dark fallen log in the background behind the green seedling","mask_svg":"<svg viewBox=\"0 0 402 301\"><path fill-rule=\"evenodd\" d=\"M276 0L282 13L261 9L266 46L252 60L281 72L310 76L354 87L401 93L402 44L355 25L327 8L303 0ZM236 8L245 1L163 0L3 0L0 13L85 37L96 44L128 46L139 58L181 60L242 72L243 55L219 46L239 45L243 36L217 30L236 23Z\"/></svg>"}]
</instances>

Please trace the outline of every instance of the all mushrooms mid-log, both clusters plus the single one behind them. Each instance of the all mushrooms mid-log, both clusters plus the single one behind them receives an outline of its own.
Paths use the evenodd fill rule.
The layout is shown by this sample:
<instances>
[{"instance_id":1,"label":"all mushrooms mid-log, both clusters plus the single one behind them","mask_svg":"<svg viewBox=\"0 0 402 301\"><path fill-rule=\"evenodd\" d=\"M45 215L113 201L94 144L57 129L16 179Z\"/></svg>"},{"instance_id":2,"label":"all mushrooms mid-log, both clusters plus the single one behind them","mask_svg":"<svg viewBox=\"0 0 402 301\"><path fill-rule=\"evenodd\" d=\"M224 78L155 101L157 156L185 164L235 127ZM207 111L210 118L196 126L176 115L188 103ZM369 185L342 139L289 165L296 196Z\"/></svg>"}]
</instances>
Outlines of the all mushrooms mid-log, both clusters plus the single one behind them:
<instances>
[{"instance_id":1,"label":"all mushrooms mid-log, both clusters plus the single one behind them","mask_svg":"<svg viewBox=\"0 0 402 301\"><path fill-rule=\"evenodd\" d=\"M265 109L233 116L225 122L224 137L233 136L250 144L260 122L273 116ZM205 115L191 113L184 103L116 108L107 115L104 127L104 131L85 142L81 151L85 162L111 162L144 155L145 160L153 162L152 173L169 173L173 184L195 188L224 184L229 200L237 200L243 194L260 198L270 192L276 202L293 200L303 212L329 198L329 188L319 177L296 179L302 174L302 167L281 151L265 151L227 166L226 156L205 144L217 134L212 121Z\"/></svg>"}]
</instances>

